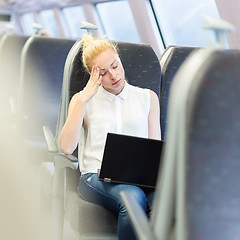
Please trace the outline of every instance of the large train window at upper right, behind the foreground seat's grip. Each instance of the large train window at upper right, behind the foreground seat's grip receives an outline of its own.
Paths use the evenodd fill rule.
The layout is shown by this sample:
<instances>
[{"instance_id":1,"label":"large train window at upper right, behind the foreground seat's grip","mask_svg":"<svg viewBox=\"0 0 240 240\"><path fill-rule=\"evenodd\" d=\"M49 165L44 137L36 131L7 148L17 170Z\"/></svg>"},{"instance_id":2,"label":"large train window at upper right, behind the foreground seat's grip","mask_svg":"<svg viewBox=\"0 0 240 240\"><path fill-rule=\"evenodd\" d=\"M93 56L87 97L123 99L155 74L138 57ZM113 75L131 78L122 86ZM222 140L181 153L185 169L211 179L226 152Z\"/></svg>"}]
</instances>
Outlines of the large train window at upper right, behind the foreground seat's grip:
<instances>
[{"instance_id":1,"label":"large train window at upper right, behind the foreground seat's grip","mask_svg":"<svg viewBox=\"0 0 240 240\"><path fill-rule=\"evenodd\" d=\"M152 0L166 45L204 47L214 34L201 28L204 16L219 18L214 0Z\"/></svg>"}]
</instances>

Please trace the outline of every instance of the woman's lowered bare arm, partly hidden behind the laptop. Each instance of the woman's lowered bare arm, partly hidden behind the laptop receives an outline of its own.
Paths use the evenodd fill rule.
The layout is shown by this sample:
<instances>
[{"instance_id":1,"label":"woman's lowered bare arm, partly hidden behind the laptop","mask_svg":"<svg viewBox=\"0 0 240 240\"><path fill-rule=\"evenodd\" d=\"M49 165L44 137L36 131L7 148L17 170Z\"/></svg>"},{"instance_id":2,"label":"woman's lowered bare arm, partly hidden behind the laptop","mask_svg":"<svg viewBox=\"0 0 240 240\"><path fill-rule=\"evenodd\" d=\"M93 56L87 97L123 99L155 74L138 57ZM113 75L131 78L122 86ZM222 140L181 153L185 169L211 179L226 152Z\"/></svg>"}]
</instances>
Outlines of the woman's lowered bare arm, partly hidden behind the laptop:
<instances>
[{"instance_id":1,"label":"woman's lowered bare arm, partly hidden behind the laptop","mask_svg":"<svg viewBox=\"0 0 240 240\"><path fill-rule=\"evenodd\" d=\"M158 96L150 90L150 112L148 116L148 137L161 140L160 107Z\"/></svg>"}]
</instances>

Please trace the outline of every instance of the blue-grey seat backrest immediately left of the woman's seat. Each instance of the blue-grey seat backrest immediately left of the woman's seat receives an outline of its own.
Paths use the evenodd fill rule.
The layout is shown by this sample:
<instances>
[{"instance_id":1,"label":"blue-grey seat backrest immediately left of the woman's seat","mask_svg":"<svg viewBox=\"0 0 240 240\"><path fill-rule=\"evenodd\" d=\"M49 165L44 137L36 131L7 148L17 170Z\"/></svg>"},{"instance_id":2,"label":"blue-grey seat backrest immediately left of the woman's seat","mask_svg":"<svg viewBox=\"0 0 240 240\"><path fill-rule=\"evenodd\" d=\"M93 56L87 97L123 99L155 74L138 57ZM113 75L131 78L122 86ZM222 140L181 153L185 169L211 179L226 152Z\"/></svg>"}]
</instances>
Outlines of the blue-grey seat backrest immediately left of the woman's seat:
<instances>
[{"instance_id":1,"label":"blue-grey seat backrest immediately left of the woman's seat","mask_svg":"<svg viewBox=\"0 0 240 240\"><path fill-rule=\"evenodd\" d=\"M27 116L23 129L43 135L42 126L55 131L61 100L63 69L75 40L33 36L21 56L18 112Z\"/></svg>"}]
</instances>

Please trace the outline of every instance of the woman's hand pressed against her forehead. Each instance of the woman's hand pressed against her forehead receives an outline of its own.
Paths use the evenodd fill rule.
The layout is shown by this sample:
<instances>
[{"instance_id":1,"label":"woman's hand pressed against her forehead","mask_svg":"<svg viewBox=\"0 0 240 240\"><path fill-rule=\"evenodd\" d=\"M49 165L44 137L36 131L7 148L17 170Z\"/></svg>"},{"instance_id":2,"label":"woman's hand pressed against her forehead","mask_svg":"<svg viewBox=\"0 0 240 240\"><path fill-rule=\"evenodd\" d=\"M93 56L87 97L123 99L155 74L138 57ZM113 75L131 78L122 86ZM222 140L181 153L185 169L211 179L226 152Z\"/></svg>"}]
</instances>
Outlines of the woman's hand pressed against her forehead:
<instances>
[{"instance_id":1,"label":"woman's hand pressed against her forehead","mask_svg":"<svg viewBox=\"0 0 240 240\"><path fill-rule=\"evenodd\" d=\"M102 82L102 76L100 75L100 69L98 65L92 67L90 78L87 85L83 89L81 96L85 102L88 102L98 91Z\"/></svg>"}]
</instances>

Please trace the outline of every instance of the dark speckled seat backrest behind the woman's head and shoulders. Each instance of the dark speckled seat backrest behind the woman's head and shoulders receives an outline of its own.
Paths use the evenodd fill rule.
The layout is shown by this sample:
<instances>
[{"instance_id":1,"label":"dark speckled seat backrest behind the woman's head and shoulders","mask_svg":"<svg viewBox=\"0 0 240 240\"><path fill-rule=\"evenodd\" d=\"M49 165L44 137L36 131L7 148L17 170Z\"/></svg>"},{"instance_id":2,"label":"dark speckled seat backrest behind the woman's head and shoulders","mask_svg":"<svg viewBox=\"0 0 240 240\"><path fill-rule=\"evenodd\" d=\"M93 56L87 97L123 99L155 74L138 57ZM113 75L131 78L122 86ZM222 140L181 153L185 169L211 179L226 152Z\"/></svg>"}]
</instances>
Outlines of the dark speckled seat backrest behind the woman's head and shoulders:
<instances>
[{"instance_id":1,"label":"dark speckled seat backrest behind the woman's head and shoulders","mask_svg":"<svg viewBox=\"0 0 240 240\"><path fill-rule=\"evenodd\" d=\"M127 81L135 86L149 88L160 97L161 68L157 55L148 44L116 42L119 55L125 69ZM72 96L82 90L89 74L85 71L81 61L81 40L69 53L69 64L65 65L62 104L58 119L56 138L67 118L67 109ZM75 151L76 155L76 151Z\"/></svg>"}]
</instances>

